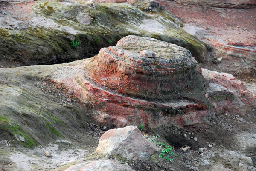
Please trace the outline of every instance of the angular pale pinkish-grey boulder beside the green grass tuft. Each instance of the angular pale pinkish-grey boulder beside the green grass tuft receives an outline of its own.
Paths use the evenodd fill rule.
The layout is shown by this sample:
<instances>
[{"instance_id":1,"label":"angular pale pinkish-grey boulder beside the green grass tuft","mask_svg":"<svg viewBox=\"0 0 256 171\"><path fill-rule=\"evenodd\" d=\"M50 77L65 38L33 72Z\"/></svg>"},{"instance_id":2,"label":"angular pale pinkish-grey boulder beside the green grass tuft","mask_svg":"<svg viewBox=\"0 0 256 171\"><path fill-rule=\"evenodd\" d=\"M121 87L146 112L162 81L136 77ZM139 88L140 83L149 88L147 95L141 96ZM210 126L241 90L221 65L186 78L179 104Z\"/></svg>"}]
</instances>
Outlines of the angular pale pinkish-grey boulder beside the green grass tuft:
<instances>
[{"instance_id":1,"label":"angular pale pinkish-grey boulder beside the green grass tuft","mask_svg":"<svg viewBox=\"0 0 256 171\"><path fill-rule=\"evenodd\" d=\"M100 137L96 149L96 153L119 155L136 162L148 162L157 152L156 146L136 126L108 130Z\"/></svg>"}]
</instances>

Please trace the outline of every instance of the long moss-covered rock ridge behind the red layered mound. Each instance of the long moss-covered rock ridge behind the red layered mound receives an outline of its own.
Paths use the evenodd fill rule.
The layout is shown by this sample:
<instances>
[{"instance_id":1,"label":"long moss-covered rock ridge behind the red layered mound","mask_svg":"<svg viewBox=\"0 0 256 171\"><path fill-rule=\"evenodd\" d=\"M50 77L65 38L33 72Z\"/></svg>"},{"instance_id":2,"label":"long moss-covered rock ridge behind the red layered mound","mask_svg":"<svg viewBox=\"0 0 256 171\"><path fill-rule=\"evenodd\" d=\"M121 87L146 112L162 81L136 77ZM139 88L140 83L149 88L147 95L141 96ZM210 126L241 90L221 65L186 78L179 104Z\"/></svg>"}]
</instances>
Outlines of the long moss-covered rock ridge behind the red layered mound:
<instances>
[{"instance_id":1,"label":"long moss-covered rock ridge behind the red layered mound","mask_svg":"<svg viewBox=\"0 0 256 171\"><path fill-rule=\"evenodd\" d=\"M150 5L150 4L149 4ZM183 23L165 10L141 11L141 3L38 1L26 30L0 28L0 67L65 63L93 57L127 35L175 43L203 61L204 45L183 31ZM147 6L147 4L145 4ZM150 5L151 6L151 5ZM154 7L152 7L154 8ZM81 42L73 48L71 41Z\"/></svg>"}]
</instances>

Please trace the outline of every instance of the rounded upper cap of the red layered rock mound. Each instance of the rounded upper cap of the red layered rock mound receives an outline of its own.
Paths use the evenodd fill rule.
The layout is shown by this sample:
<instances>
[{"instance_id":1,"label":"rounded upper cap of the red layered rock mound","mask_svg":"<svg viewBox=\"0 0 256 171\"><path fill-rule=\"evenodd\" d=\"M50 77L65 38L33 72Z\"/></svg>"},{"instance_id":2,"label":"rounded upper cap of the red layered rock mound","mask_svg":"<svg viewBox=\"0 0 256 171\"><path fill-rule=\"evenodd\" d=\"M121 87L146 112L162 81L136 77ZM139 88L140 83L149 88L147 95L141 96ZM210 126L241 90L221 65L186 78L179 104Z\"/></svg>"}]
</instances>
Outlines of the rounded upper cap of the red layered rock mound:
<instances>
[{"instance_id":1,"label":"rounded upper cap of the red layered rock mound","mask_svg":"<svg viewBox=\"0 0 256 171\"><path fill-rule=\"evenodd\" d=\"M201 70L191 53L150 37L127 36L102 48L87 66L91 81L118 94L166 101L187 88L203 88Z\"/></svg>"}]
</instances>

